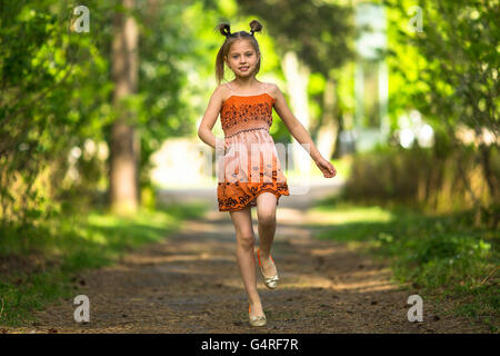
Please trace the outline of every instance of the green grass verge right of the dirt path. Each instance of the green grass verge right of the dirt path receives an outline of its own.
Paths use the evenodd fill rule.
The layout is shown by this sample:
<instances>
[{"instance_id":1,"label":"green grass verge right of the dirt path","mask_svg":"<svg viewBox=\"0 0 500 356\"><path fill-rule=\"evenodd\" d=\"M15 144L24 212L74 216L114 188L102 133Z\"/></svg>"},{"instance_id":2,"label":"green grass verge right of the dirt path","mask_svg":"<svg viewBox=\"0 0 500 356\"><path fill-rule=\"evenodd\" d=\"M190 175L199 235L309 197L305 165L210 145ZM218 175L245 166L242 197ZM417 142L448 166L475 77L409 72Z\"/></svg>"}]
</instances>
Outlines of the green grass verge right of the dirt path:
<instances>
[{"instance_id":1,"label":"green grass verge right of the dirt path","mask_svg":"<svg viewBox=\"0 0 500 356\"><path fill-rule=\"evenodd\" d=\"M473 214L424 216L408 207L359 206L327 198L311 212L328 214L317 237L346 241L390 261L394 281L422 297L447 300L457 315L499 332L500 234L473 228Z\"/></svg>"}]
</instances>

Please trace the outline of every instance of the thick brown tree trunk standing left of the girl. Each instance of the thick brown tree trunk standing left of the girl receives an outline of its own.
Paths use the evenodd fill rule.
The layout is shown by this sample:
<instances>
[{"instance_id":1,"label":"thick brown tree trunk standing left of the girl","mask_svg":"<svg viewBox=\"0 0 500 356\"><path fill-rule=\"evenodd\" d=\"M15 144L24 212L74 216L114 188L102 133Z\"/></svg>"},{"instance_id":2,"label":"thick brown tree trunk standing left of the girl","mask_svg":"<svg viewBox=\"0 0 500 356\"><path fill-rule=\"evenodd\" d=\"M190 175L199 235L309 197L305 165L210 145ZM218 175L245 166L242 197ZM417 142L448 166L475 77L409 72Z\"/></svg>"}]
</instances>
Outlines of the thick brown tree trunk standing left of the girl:
<instances>
[{"instance_id":1,"label":"thick brown tree trunk standing left of the girl","mask_svg":"<svg viewBox=\"0 0 500 356\"><path fill-rule=\"evenodd\" d=\"M134 0L122 0L127 10L134 8ZM110 137L110 208L117 215L130 215L138 208L138 149L133 127L133 112L123 99L137 91L138 85L138 28L132 17L117 12L114 38L111 49L113 106L117 120Z\"/></svg>"}]
</instances>

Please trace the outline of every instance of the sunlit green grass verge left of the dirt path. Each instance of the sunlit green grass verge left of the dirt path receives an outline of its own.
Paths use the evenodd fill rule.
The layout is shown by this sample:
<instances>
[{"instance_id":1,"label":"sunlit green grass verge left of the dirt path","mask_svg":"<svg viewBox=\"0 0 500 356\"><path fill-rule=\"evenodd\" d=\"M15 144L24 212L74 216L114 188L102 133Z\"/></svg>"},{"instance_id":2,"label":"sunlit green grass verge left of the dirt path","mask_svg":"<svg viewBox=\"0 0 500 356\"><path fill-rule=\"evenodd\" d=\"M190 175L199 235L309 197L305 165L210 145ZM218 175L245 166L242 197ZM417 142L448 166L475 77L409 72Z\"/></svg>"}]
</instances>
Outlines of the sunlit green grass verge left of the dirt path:
<instances>
[{"instance_id":1,"label":"sunlit green grass verge left of the dirt path","mask_svg":"<svg viewBox=\"0 0 500 356\"><path fill-rule=\"evenodd\" d=\"M200 216L207 208L172 205L141 209L133 218L97 208L24 229L1 227L0 260L9 270L0 273L0 325L28 325L33 310L74 296L79 273L111 265L131 249L168 238L183 219Z\"/></svg>"}]
</instances>

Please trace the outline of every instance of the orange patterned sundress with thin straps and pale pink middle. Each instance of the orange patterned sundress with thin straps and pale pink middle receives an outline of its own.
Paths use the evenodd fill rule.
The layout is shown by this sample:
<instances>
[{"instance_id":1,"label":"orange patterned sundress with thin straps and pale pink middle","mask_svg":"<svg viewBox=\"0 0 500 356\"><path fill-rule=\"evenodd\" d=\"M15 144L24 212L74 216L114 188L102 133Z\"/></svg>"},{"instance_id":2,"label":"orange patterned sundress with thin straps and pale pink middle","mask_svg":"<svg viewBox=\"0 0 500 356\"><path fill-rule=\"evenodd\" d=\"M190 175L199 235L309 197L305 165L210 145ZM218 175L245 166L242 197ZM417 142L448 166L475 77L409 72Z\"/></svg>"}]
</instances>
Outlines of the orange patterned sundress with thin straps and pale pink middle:
<instances>
[{"instance_id":1,"label":"orange patterned sundress with thin straps and pale pink middle","mask_svg":"<svg viewBox=\"0 0 500 356\"><path fill-rule=\"evenodd\" d=\"M219 159L217 198L219 211L257 206L257 197L269 191L289 196L274 141L269 134L276 99L267 92L231 96L222 102L220 121L227 149Z\"/></svg>"}]
</instances>

